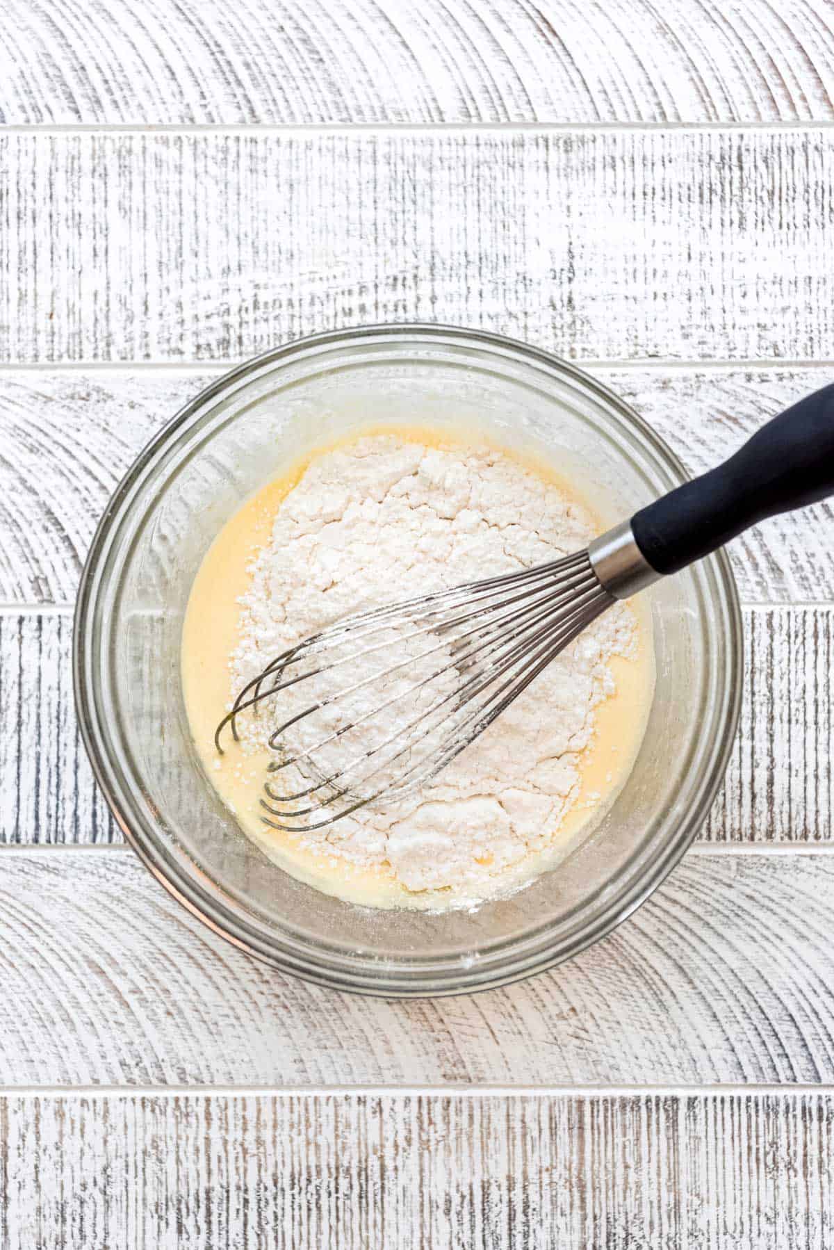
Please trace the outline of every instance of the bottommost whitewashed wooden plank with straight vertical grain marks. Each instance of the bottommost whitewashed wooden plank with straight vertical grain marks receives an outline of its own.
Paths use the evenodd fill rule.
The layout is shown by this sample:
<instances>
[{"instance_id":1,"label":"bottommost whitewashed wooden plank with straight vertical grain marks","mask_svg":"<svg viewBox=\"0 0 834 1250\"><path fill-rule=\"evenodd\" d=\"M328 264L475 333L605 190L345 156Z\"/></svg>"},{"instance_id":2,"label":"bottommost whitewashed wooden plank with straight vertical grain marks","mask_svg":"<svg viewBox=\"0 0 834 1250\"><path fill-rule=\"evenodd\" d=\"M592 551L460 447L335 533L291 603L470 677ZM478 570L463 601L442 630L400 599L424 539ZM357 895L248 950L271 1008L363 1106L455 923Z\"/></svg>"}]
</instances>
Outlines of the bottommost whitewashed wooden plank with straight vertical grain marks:
<instances>
[{"instance_id":1,"label":"bottommost whitewashed wooden plank with straight vertical grain marks","mask_svg":"<svg viewBox=\"0 0 834 1250\"><path fill-rule=\"evenodd\" d=\"M4 1250L810 1250L834 1100L8 1098Z\"/></svg>"}]
</instances>

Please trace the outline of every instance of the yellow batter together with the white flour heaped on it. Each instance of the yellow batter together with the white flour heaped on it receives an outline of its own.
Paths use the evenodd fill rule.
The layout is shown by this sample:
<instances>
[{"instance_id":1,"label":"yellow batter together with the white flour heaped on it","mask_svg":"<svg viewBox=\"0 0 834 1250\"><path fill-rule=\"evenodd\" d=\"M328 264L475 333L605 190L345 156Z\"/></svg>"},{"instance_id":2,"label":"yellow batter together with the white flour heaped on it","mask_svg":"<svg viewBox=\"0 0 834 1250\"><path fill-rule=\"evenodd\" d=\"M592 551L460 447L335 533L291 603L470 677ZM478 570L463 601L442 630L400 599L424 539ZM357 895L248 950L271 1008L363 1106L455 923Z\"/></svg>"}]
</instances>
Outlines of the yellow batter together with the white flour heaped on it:
<instances>
[{"instance_id":1,"label":"yellow batter together with the white flour heaped on it","mask_svg":"<svg viewBox=\"0 0 834 1250\"><path fill-rule=\"evenodd\" d=\"M229 521L194 582L183 681L204 768L244 832L295 876L374 906L470 906L551 866L625 781L654 688L644 605L606 611L438 778L318 832L263 822L270 716L216 722L288 646L340 618L588 545L555 474L483 436L374 430L295 465Z\"/></svg>"}]
</instances>

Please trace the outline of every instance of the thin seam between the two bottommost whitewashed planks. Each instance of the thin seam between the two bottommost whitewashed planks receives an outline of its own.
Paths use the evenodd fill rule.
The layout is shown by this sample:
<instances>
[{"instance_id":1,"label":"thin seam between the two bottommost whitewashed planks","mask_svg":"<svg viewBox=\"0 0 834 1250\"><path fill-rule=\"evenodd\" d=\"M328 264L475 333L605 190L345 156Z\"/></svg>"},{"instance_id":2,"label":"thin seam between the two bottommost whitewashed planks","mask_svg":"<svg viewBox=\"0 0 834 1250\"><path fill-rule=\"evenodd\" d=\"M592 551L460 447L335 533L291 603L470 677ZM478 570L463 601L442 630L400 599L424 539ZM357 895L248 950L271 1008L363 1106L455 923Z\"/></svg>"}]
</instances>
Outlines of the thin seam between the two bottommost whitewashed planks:
<instances>
[{"instance_id":1,"label":"thin seam between the two bottommost whitewashed planks","mask_svg":"<svg viewBox=\"0 0 834 1250\"><path fill-rule=\"evenodd\" d=\"M176 1098L834 1098L834 1084L785 1085L3 1085L0 1099Z\"/></svg>"}]
</instances>

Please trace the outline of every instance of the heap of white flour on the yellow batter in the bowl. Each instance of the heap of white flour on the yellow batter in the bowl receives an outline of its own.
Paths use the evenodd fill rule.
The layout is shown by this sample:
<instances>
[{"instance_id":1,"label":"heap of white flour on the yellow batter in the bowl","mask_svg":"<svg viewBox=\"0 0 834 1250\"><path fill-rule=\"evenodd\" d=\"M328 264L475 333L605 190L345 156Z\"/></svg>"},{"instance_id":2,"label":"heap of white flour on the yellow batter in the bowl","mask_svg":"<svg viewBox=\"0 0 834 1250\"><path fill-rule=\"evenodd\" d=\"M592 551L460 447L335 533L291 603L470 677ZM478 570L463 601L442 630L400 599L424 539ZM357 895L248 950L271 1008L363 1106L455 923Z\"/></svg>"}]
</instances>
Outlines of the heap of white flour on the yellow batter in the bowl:
<instances>
[{"instance_id":1,"label":"heap of white flour on the yellow batter in the bowl","mask_svg":"<svg viewBox=\"0 0 834 1250\"><path fill-rule=\"evenodd\" d=\"M589 518L535 472L486 448L438 450L366 436L313 461L283 500L256 558L233 656L236 692L279 652L343 616L568 555ZM388 861L409 890L460 900L496 892L546 849L576 800L594 709L613 694L606 660L635 646L616 605L559 656L466 751L416 795L305 834L361 866ZM274 721L241 722L263 748Z\"/></svg>"}]
</instances>

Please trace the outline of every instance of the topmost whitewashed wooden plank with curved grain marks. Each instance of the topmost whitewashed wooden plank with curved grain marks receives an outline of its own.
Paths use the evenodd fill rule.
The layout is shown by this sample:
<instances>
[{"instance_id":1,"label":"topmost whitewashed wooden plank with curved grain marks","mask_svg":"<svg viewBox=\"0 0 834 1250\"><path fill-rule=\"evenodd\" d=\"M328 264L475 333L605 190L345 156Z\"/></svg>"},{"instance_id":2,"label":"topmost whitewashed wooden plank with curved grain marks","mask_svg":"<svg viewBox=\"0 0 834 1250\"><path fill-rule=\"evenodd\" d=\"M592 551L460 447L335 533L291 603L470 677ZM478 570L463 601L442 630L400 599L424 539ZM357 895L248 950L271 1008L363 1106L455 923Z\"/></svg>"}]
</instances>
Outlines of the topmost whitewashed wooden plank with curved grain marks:
<instances>
[{"instance_id":1,"label":"topmost whitewashed wooden plank with curved grain marks","mask_svg":"<svg viewBox=\"0 0 834 1250\"><path fill-rule=\"evenodd\" d=\"M815 120L826 0L4 0L0 122Z\"/></svg>"}]
</instances>

